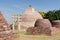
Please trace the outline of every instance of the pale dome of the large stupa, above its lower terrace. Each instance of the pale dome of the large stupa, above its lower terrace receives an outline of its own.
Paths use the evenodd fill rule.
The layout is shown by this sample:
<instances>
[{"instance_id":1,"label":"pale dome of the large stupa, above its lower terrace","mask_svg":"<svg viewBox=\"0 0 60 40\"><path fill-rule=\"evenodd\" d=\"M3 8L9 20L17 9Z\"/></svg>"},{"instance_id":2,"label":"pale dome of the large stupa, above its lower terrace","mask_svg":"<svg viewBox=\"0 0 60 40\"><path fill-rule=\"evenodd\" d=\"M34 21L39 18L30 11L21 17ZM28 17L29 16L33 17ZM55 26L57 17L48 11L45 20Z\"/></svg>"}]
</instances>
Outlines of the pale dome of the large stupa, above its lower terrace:
<instances>
[{"instance_id":1,"label":"pale dome of the large stupa, above its lower terrace","mask_svg":"<svg viewBox=\"0 0 60 40\"><path fill-rule=\"evenodd\" d=\"M35 11L35 9L29 6L21 15L23 21L35 21L36 19L43 19L43 17ZM24 19L25 18L25 19Z\"/></svg>"}]
</instances>

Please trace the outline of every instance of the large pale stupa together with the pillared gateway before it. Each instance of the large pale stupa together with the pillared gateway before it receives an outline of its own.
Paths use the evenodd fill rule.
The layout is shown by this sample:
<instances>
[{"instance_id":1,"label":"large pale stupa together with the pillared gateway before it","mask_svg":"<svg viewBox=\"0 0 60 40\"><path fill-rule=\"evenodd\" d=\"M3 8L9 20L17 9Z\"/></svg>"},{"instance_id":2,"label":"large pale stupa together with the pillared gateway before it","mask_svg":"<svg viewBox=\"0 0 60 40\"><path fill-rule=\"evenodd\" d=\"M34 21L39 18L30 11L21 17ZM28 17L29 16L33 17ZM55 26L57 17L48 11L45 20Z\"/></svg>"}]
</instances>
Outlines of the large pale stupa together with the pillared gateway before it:
<instances>
[{"instance_id":1,"label":"large pale stupa together with the pillared gateway before it","mask_svg":"<svg viewBox=\"0 0 60 40\"><path fill-rule=\"evenodd\" d=\"M33 27L37 19L43 19L42 16L29 6L22 14L13 14L13 30L26 30Z\"/></svg>"}]
</instances>

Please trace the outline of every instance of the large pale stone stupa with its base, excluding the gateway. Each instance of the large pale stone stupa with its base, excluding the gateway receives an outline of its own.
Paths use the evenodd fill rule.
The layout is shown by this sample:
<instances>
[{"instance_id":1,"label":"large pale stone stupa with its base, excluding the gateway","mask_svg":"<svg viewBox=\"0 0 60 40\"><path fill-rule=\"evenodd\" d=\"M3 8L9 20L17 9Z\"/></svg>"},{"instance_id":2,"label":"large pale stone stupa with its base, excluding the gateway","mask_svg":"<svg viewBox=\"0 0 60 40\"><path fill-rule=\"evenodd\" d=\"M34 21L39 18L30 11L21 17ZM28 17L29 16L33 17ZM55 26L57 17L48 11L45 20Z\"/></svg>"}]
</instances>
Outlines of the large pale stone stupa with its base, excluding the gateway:
<instances>
[{"instance_id":1,"label":"large pale stone stupa with its base, excluding the gateway","mask_svg":"<svg viewBox=\"0 0 60 40\"><path fill-rule=\"evenodd\" d=\"M21 14L21 25L25 27L33 27L37 19L43 19L43 17L29 5L29 7Z\"/></svg>"}]
</instances>

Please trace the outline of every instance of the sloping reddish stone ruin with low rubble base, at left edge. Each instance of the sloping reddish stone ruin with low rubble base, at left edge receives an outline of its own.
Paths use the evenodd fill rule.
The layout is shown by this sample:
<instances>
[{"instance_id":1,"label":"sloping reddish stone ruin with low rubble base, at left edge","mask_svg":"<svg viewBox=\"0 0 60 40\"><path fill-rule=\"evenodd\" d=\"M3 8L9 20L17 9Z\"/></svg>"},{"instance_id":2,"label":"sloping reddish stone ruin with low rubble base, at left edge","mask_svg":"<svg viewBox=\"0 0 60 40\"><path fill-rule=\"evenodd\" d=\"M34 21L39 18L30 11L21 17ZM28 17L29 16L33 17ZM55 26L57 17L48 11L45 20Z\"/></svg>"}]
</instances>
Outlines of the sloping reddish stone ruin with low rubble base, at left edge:
<instances>
[{"instance_id":1,"label":"sloping reddish stone ruin with low rubble base, at left edge","mask_svg":"<svg viewBox=\"0 0 60 40\"><path fill-rule=\"evenodd\" d=\"M2 13L0 12L0 40L12 40L14 37L18 37L18 34L10 29Z\"/></svg>"}]
</instances>

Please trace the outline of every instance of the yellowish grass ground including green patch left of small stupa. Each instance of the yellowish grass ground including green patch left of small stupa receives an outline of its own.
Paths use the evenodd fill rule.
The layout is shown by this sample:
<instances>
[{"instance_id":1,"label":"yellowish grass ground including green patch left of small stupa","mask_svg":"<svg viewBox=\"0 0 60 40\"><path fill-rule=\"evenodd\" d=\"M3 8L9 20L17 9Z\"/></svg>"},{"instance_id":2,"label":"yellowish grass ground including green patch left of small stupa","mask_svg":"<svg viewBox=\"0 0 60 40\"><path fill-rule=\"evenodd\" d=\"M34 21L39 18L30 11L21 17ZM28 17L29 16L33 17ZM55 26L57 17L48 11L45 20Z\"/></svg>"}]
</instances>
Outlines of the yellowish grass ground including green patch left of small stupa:
<instances>
[{"instance_id":1,"label":"yellowish grass ground including green patch left of small stupa","mask_svg":"<svg viewBox=\"0 0 60 40\"><path fill-rule=\"evenodd\" d=\"M20 34L19 38L14 40L60 40L60 30L58 30L56 35L47 36L47 35L25 35L25 31L17 31Z\"/></svg>"}]
</instances>

